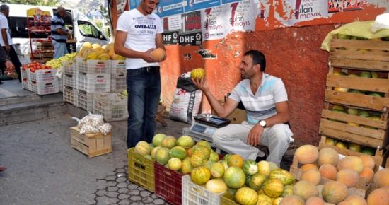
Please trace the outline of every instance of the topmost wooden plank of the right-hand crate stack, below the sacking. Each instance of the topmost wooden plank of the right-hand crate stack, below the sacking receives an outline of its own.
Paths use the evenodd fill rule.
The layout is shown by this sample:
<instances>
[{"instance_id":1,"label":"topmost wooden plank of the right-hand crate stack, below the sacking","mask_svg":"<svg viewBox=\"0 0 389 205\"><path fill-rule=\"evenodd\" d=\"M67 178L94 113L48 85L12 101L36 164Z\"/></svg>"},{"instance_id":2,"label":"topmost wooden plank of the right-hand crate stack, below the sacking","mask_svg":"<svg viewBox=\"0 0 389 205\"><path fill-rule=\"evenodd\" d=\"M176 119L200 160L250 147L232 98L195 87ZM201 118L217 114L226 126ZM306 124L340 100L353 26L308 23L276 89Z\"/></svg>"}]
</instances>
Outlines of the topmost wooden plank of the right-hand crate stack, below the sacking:
<instances>
[{"instance_id":1,"label":"topmost wooden plank of the right-hand crate stack, below the sacking","mask_svg":"<svg viewBox=\"0 0 389 205\"><path fill-rule=\"evenodd\" d=\"M389 42L374 41L374 40L347 40L347 39L332 39L331 47L346 47L354 49L373 49L389 51Z\"/></svg>"}]
</instances>

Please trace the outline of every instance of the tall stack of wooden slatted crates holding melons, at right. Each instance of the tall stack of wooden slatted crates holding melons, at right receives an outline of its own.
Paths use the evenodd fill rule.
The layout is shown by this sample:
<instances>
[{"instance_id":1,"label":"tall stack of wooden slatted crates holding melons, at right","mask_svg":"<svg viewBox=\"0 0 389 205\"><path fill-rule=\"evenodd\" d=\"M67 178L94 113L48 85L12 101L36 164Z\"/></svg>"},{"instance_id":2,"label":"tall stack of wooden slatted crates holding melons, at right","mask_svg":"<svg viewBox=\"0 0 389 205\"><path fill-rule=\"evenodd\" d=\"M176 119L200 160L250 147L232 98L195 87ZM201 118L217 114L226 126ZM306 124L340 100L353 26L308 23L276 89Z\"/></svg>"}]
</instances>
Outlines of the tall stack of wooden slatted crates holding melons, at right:
<instances>
[{"instance_id":1,"label":"tall stack of wooden slatted crates holding melons, at right","mask_svg":"<svg viewBox=\"0 0 389 205\"><path fill-rule=\"evenodd\" d=\"M388 156L389 42L332 39L320 147L344 155ZM349 144L349 145L348 145Z\"/></svg>"}]
</instances>

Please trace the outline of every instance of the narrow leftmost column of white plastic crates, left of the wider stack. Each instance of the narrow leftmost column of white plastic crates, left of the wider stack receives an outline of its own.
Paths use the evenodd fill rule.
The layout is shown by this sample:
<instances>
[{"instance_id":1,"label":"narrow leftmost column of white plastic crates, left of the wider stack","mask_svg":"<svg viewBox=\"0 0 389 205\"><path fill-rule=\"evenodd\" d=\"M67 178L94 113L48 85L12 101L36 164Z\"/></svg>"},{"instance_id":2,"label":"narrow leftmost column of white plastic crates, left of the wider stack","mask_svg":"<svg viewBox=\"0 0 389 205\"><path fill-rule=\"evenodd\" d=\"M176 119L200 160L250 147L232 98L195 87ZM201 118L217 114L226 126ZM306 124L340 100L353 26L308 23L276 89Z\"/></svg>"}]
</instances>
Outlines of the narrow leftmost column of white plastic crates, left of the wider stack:
<instances>
[{"instance_id":1,"label":"narrow leftmost column of white plastic crates, left of the wider stack","mask_svg":"<svg viewBox=\"0 0 389 205\"><path fill-rule=\"evenodd\" d=\"M62 62L62 68L64 74L62 79L64 81L64 87L62 93L64 93L64 101L77 105L76 102L76 62L64 61Z\"/></svg>"}]
</instances>

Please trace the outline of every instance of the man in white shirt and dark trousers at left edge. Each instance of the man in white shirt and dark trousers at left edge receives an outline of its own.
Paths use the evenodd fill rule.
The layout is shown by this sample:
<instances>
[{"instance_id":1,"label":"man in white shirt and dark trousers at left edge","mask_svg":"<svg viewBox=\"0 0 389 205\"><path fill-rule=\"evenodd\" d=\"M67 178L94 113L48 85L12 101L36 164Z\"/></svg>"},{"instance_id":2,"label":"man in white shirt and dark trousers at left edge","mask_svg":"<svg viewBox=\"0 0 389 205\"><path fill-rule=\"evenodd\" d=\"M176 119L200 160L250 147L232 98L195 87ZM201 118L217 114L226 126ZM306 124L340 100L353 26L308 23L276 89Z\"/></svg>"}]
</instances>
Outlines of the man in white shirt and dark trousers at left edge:
<instances>
[{"instance_id":1,"label":"man in white shirt and dark trousers at left edge","mask_svg":"<svg viewBox=\"0 0 389 205\"><path fill-rule=\"evenodd\" d=\"M6 51L8 57L11 58L12 64L15 66L16 73L18 74L19 83L22 81L21 77L21 61L19 61L18 54L16 54L15 49L12 46L11 35L9 33L8 27L8 17L9 15L9 6L3 4L0 6L0 28L1 28L1 37L0 44L1 47ZM3 66L3 64L1 64Z\"/></svg>"}]
</instances>

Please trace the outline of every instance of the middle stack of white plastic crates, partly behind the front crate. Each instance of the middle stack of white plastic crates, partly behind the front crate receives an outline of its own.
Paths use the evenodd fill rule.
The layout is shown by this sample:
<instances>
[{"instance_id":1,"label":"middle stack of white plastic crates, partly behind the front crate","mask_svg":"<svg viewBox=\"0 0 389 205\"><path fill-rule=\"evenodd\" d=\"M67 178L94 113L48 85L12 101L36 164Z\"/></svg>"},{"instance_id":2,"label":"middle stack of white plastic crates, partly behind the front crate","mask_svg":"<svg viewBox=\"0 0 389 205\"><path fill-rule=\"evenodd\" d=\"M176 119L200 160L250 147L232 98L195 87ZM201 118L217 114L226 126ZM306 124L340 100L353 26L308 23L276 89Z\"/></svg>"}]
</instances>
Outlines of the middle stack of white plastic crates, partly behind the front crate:
<instances>
[{"instance_id":1,"label":"middle stack of white plastic crates, partly behind the front crate","mask_svg":"<svg viewBox=\"0 0 389 205\"><path fill-rule=\"evenodd\" d=\"M93 111L95 93L110 92L110 61L76 58L76 106Z\"/></svg>"}]
</instances>

